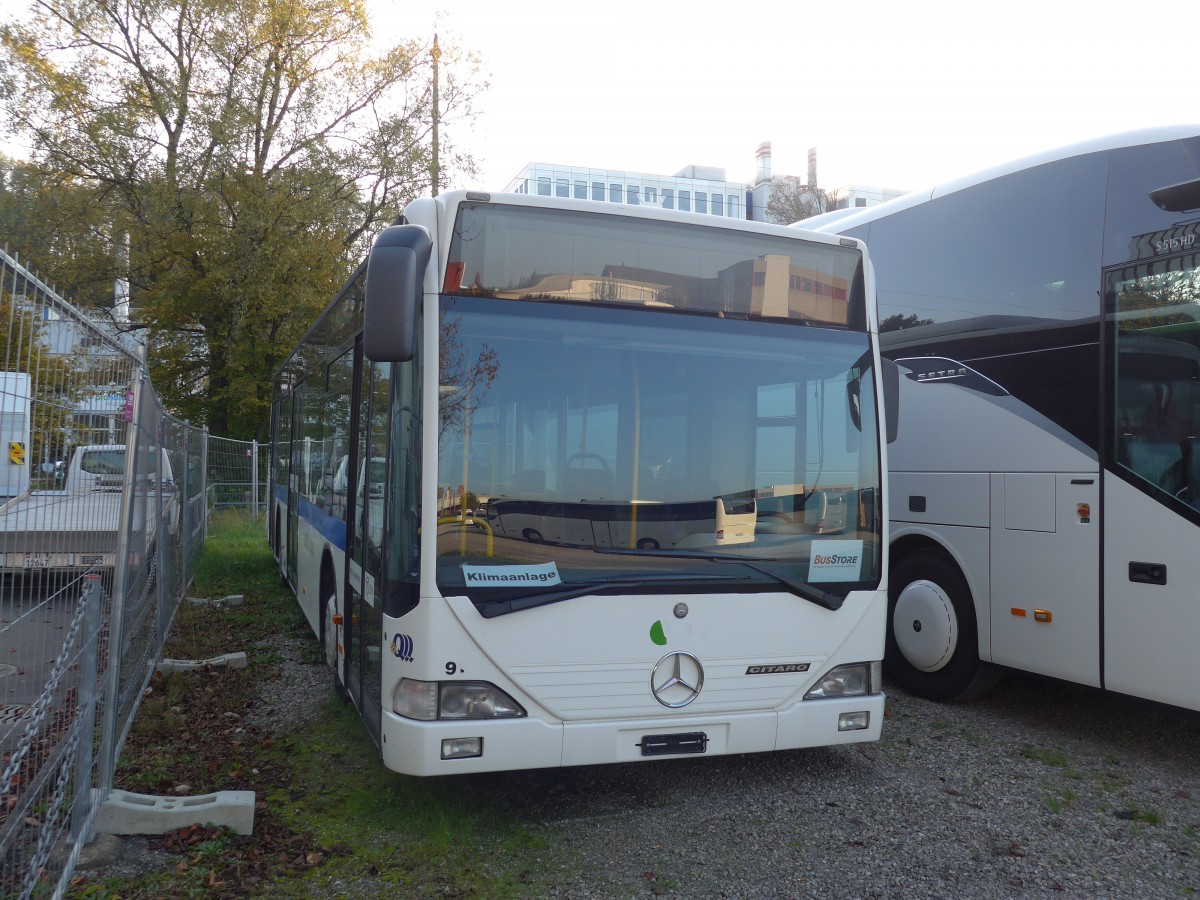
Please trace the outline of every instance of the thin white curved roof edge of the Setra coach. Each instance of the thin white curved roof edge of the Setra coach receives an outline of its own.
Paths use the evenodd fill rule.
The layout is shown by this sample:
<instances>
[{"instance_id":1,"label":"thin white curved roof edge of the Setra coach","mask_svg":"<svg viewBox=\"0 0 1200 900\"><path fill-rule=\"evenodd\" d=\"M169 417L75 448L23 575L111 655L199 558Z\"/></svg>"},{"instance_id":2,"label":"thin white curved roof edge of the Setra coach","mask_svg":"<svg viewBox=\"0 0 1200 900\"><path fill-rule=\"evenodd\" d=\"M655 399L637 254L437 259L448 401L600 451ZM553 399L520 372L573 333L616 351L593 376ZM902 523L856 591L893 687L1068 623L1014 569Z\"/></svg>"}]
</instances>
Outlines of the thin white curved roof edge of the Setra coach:
<instances>
[{"instance_id":1,"label":"thin white curved roof edge of the Setra coach","mask_svg":"<svg viewBox=\"0 0 1200 900\"><path fill-rule=\"evenodd\" d=\"M876 218L889 216L893 212L917 206L928 200L944 197L946 194L962 191L967 187L991 181L992 179L1010 175L1014 172L1032 169L1037 166L1069 160L1075 156L1103 152L1105 150L1118 150L1126 146L1140 146L1142 144L1157 144L1166 140L1182 140L1200 136L1200 125L1166 125L1157 128L1142 128L1140 131L1128 131L1120 134L1092 138L1076 144L1044 150L1032 156L1024 156L1010 162L982 169L971 175L952 179L932 187L920 191L912 191L898 197L894 200L881 203L868 209L832 210L812 218L805 218L793 224L793 228L803 228L809 232L824 232L827 234L839 234L847 228L874 222Z\"/></svg>"}]
</instances>

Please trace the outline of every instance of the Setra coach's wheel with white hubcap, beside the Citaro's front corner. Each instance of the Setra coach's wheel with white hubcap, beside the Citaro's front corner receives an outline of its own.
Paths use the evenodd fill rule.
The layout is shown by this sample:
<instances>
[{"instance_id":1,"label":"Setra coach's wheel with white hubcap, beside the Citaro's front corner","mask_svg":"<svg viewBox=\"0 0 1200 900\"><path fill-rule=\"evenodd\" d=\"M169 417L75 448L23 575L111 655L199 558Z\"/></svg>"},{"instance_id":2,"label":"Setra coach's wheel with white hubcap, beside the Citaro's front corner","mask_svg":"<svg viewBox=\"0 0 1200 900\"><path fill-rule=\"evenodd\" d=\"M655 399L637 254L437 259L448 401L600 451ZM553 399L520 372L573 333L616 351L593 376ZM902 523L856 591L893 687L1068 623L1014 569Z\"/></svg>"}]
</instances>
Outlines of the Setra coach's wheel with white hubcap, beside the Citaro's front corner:
<instances>
[{"instance_id":1,"label":"Setra coach's wheel with white hubcap, beside the Citaro's front corner","mask_svg":"<svg viewBox=\"0 0 1200 900\"><path fill-rule=\"evenodd\" d=\"M883 667L906 691L938 702L973 700L1000 680L979 659L966 578L943 553L918 550L893 569Z\"/></svg>"}]
</instances>

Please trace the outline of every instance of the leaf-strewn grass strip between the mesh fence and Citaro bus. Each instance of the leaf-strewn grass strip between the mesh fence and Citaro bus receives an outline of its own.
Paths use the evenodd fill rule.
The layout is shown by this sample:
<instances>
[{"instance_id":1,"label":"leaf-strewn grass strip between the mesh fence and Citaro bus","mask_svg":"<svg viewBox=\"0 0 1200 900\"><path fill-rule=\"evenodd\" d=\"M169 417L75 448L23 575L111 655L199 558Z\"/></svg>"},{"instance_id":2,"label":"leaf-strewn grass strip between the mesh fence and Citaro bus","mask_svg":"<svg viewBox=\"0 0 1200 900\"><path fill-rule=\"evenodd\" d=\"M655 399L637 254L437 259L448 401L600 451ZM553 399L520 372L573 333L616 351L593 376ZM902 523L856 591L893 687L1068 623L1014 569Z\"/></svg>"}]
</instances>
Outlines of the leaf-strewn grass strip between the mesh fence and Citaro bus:
<instances>
[{"instance_id":1,"label":"leaf-strewn grass strip between the mesh fence and Citaro bus","mask_svg":"<svg viewBox=\"0 0 1200 900\"><path fill-rule=\"evenodd\" d=\"M540 860L545 845L514 811L520 779L514 787L496 776L415 779L384 769L359 714L335 697L332 676L322 689L323 714L301 730L275 733L250 715L278 678L281 636L301 650L305 665L324 665L295 598L280 584L260 522L214 516L190 594L241 594L244 602L182 602L164 655L209 659L246 650L250 666L155 676L115 786L172 796L254 791L254 833L179 829L151 842L174 854L164 870L91 876L78 881L70 896L301 898L349 890L518 898L548 892L556 876Z\"/></svg>"}]
</instances>

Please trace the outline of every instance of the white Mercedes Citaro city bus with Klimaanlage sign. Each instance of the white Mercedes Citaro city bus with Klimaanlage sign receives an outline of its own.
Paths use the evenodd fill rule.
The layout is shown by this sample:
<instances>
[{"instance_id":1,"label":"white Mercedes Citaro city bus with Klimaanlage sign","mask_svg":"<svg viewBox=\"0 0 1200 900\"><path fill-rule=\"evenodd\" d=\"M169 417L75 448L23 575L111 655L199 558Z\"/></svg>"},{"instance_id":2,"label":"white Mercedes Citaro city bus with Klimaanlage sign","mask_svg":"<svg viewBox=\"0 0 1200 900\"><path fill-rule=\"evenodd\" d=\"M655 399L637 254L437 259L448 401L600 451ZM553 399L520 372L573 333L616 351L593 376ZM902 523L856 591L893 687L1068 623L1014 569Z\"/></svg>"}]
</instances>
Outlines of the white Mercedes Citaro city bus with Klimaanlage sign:
<instances>
[{"instance_id":1,"label":"white Mercedes Citaro city bus with Klimaanlage sign","mask_svg":"<svg viewBox=\"0 0 1200 900\"><path fill-rule=\"evenodd\" d=\"M278 373L269 530L386 767L878 737L871 277L853 239L518 194L379 235Z\"/></svg>"}]
</instances>

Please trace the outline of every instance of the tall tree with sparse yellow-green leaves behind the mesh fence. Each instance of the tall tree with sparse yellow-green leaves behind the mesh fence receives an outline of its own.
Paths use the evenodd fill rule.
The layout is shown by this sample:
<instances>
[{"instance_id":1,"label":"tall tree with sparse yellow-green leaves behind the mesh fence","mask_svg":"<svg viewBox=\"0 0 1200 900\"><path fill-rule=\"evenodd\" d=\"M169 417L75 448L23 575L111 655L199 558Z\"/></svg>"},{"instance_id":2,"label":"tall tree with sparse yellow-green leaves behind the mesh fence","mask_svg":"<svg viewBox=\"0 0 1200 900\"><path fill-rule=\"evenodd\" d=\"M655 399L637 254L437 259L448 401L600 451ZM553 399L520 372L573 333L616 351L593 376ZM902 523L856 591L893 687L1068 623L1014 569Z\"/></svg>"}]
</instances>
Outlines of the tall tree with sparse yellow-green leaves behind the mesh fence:
<instances>
[{"instance_id":1,"label":"tall tree with sparse yellow-green leaves behind the mesh fence","mask_svg":"<svg viewBox=\"0 0 1200 900\"><path fill-rule=\"evenodd\" d=\"M40 178L108 212L107 282L127 265L168 404L264 437L288 348L380 223L431 188L430 48L370 54L364 0L34 8L0 30L8 121ZM439 170L470 172L445 128L470 113L478 61L443 48L440 70Z\"/></svg>"}]
</instances>

